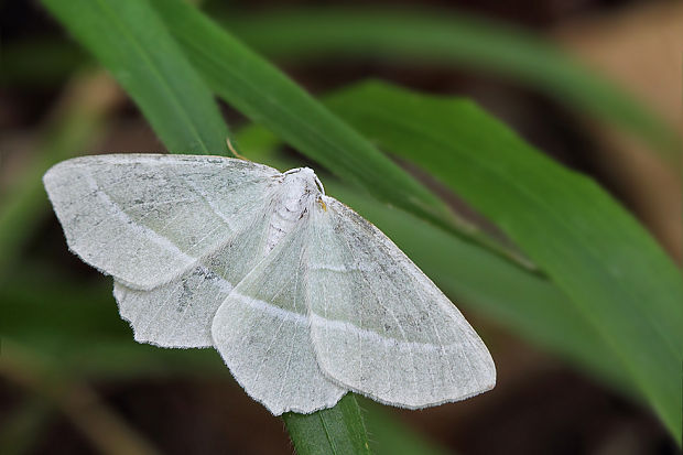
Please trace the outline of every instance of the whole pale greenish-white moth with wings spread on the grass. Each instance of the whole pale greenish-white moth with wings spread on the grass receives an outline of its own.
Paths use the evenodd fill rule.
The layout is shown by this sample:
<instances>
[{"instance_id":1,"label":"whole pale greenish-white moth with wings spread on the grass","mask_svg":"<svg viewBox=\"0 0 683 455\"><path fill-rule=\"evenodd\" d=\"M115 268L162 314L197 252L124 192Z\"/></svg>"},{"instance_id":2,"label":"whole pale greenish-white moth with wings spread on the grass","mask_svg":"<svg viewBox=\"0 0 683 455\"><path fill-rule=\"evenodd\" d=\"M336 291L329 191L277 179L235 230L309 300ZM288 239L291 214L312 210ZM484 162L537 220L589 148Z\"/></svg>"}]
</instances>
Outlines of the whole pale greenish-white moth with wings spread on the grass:
<instances>
[{"instance_id":1,"label":"whole pale greenish-white moth with wings spread on the grass","mask_svg":"<svg viewBox=\"0 0 683 455\"><path fill-rule=\"evenodd\" d=\"M113 277L134 339L215 347L274 415L348 391L420 409L495 386L460 312L308 167L108 154L43 181L69 249Z\"/></svg>"}]
</instances>

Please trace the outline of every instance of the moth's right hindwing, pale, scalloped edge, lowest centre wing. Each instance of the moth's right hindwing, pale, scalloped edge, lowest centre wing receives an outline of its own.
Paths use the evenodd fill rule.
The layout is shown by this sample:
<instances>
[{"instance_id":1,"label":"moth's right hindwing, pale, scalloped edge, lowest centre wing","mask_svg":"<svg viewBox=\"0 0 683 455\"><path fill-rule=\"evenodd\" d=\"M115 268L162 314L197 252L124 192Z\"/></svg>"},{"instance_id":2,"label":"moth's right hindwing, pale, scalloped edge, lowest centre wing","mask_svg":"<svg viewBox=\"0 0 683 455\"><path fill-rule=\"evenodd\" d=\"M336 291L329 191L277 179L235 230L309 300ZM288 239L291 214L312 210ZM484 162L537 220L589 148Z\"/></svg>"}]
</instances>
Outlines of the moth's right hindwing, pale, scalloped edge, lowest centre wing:
<instances>
[{"instance_id":1,"label":"moth's right hindwing, pale, scalloped edge, lowest centre wing","mask_svg":"<svg viewBox=\"0 0 683 455\"><path fill-rule=\"evenodd\" d=\"M322 373L311 345L306 229L304 218L232 290L212 325L214 346L235 379L274 415L329 408L346 393Z\"/></svg>"}]
</instances>

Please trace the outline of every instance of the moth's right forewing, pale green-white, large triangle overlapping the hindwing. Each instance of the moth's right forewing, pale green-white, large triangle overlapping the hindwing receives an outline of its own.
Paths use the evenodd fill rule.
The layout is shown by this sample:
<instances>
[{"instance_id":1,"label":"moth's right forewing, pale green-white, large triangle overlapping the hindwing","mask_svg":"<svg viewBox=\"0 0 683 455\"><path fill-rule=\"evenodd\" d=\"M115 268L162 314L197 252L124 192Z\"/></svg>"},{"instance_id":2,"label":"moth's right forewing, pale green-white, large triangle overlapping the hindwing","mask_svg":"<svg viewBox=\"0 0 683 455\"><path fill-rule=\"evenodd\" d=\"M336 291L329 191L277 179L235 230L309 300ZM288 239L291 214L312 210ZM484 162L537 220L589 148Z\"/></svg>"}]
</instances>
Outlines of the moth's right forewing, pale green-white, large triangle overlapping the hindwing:
<instances>
[{"instance_id":1,"label":"moth's right forewing, pale green-white, large triangle overlapping the hindwing","mask_svg":"<svg viewBox=\"0 0 683 455\"><path fill-rule=\"evenodd\" d=\"M486 346L379 229L338 201L312 210L306 302L322 370L377 401L419 409L491 389Z\"/></svg>"}]
</instances>

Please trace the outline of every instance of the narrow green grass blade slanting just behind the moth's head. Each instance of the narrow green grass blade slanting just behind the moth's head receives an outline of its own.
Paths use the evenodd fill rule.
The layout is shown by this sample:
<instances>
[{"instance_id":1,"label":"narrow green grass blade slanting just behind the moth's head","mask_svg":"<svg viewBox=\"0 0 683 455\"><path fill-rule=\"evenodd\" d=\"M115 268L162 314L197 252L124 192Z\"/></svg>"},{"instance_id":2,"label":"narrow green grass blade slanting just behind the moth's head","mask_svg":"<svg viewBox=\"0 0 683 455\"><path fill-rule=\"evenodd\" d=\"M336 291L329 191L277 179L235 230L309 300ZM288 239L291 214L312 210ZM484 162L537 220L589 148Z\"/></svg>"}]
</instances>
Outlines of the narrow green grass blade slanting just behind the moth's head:
<instances>
[{"instance_id":1,"label":"narrow green grass blade slanting just behind the moth's head","mask_svg":"<svg viewBox=\"0 0 683 455\"><path fill-rule=\"evenodd\" d=\"M152 4L214 91L240 112L380 201L451 223L436 196L202 12L178 0Z\"/></svg>"}]
</instances>

